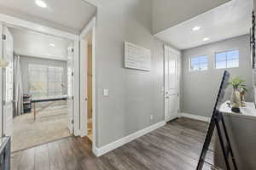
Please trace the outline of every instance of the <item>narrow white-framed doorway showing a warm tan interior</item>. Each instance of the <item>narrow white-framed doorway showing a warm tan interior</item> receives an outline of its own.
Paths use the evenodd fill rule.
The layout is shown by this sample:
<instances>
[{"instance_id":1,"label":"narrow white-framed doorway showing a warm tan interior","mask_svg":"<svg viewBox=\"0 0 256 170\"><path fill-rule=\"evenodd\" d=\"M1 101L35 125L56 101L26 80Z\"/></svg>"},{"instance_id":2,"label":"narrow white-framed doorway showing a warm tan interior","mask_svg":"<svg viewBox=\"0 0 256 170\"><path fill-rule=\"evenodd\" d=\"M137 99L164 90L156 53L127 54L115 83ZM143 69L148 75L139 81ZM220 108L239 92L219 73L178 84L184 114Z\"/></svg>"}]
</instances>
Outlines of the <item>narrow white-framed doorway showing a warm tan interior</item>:
<instances>
[{"instance_id":1,"label":"narrow white-framed doorway showing a warm tan interior","mask_svg":"<svg viewBox=\"0 0 256 170\"><path fill-rule=\"evenodd\" d=\"M96 152L96 116L95 116L95 22L84 28L80 35L80 106L81 106L81 136L87 136Z\"/></svg>"}]
</instances>

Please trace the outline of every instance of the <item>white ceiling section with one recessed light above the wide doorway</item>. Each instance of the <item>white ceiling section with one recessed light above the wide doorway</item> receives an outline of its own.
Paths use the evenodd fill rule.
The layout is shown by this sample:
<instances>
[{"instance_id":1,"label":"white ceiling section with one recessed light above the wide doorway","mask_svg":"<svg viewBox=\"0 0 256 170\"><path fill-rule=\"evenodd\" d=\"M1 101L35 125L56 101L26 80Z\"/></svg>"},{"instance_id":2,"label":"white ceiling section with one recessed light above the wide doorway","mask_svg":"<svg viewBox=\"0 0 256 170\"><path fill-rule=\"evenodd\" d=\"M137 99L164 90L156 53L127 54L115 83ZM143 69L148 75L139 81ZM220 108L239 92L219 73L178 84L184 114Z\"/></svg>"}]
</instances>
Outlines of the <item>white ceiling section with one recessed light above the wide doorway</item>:
<instances>
[{"instance_id":1,"label":"white ceiling section with one recessed light above the wide doorway","mask_svg":"<svg viewBox=\"0 0 256 170\"><path fill-rule=\"evenodd\" d=\"M0 0L0 11L22 20L79 34L96 13L96 7L83 0L44 0L40 8L34 0ZM72 2L72 3L71 3Z\"/></svg>"}]
</instances>

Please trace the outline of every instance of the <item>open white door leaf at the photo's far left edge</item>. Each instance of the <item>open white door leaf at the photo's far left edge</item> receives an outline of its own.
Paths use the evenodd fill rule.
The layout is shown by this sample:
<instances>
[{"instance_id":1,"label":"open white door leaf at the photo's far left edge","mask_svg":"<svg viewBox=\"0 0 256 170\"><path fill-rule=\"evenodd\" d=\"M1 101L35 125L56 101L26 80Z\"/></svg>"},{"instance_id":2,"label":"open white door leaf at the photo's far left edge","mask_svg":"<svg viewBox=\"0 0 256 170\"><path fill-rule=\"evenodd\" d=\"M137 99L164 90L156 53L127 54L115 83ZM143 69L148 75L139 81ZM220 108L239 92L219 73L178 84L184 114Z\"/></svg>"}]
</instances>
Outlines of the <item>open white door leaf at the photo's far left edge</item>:
<instances>
[{"instance_id":1,"label":"open white door leaf at the photo's far left edge","mask_svg":"<svg viewBox=\"0 0 256 170\"><path fill-rule=\"evenodd\" d=\"M6 26L3 26L3 58L9 62L3 72L3 133L12 136L13 133L13 37ZM4 70L3 70L4 71Z\"/></svg>"}]
</instances>

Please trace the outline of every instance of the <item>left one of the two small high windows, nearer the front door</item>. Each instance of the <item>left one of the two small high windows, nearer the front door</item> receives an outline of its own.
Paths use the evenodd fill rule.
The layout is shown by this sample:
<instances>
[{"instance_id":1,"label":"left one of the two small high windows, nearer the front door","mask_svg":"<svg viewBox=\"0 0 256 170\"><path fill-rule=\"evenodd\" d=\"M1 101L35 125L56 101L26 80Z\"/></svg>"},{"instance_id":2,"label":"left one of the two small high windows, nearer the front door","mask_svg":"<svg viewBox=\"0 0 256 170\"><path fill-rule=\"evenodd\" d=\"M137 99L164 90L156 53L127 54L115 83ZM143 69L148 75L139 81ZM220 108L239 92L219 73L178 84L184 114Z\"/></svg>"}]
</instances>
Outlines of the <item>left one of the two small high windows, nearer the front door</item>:
<instances>
[{"instance_id":1,"label":"left one of the two small high windows, nearer the front door","mask_svg":"<svg viewBox=\"0 0 256 170\"><path fill-rule=\"evenodd\" d=\"M190 58L190 71L206 71L208 69L208 56Z\"/></svg>"}]
</instances>

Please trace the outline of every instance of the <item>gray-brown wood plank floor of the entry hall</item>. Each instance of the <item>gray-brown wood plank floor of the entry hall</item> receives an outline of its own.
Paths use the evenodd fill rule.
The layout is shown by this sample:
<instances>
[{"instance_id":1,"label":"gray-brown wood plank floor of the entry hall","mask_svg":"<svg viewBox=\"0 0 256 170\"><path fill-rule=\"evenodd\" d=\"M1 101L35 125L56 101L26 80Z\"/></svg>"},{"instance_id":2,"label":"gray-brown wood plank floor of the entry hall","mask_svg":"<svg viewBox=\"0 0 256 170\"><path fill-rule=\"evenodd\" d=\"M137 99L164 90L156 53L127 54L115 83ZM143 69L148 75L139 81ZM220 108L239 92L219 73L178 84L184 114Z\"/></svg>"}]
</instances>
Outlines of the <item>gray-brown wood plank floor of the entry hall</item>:
<instances>
[{"instance_id":1,"label":"gray-brown wood plank floor of the entry hall","mask_svg":"<svg viewBox=\"0 0 256 170\"><path fill-rule=\"evenodd\" d=\"M181 118L101 157L92 154L90 139L69 137L14 153L11 169L194 170L206 132L207 123Z\"/></svg>"}]
</instances>

